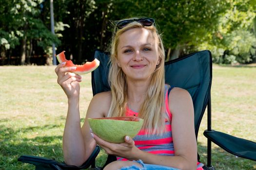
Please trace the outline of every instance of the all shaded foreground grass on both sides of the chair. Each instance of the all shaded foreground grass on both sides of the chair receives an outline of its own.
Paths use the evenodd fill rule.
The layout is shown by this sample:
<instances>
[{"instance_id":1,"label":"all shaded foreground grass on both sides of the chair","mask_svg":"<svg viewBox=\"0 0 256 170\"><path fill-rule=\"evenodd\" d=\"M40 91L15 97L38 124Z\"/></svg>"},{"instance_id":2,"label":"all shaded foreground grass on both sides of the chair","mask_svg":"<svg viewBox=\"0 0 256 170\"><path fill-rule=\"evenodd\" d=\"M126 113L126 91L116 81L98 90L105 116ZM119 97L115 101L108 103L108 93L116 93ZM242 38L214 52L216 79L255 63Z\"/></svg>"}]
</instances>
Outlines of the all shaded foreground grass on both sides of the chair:
<instances>
[{"instance_id":1,"label":"all shaded foreground grass on both sides of the chair","mask_svg":"<svg viewBox=\"0 0 256 170\"><path fill-rule=\"evenodd\" d=\"M59 125L33 126L13 130L0 125L0 170L34 170L33 165L24 164L17 160L21 155L36 155L62 162L62 136L22 137L22 133L56 127L59 127ZM207 147L198 143L198 152L201 162L206 163ZM96 159L96 165L102 166L106 158L107 155L101 150ZM218 170L256 170L254 161L236 158L236 156L220 148L212 149L212 165Z\"/></svg>"}]
</instances>

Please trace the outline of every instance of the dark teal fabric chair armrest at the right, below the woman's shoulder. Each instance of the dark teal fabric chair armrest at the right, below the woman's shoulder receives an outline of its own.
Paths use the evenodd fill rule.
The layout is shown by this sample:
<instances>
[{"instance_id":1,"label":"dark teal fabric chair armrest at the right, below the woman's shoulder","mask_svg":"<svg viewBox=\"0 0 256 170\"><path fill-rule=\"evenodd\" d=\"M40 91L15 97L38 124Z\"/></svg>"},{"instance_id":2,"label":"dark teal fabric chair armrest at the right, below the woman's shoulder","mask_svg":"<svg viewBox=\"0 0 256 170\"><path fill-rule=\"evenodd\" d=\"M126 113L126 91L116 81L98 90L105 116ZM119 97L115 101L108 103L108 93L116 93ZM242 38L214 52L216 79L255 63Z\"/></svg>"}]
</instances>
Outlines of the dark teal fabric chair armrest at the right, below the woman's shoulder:
<instances>
[{"instance_id":1,"label":"dark teal fabric chair armrest at the right, below the woman's shoulder","mask_svg":"<svg viewBox=\"0 0 256 170\"><path fill-rule=\"evenodd\" d=\"M215 130L206 130L203 135L229 153L256 161L256 142Z\"/></svg>"}]
</instances>

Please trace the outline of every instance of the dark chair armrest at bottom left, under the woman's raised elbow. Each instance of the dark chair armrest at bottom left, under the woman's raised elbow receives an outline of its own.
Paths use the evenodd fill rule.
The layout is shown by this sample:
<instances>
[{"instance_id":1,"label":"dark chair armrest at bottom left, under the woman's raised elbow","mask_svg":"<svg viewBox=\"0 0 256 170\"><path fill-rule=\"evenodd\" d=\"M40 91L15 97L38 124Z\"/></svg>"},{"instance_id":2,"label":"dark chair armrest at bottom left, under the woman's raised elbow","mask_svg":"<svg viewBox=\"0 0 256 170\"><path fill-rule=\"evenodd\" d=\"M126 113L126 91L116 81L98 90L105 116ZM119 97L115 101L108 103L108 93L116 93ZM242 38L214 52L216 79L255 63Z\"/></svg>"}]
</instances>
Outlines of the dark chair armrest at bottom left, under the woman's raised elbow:
<instances>
[{"instance_id":1,"label":"dark chair armrest at bottom left, under the woman's raised elbow","mask_svg":"<svg viewBox=\"0 0 256 170\"><path fill-rule=\"evenodd\" d=\"M33 164L36 166L36 170L84 170L91 166L99 151L99 146L96 146L91 156L80 167L67 165L64 162L59 163L58 161L53 159L32 155L22 155L18 158L18 161Z\"/></svg>"}]
</instances>

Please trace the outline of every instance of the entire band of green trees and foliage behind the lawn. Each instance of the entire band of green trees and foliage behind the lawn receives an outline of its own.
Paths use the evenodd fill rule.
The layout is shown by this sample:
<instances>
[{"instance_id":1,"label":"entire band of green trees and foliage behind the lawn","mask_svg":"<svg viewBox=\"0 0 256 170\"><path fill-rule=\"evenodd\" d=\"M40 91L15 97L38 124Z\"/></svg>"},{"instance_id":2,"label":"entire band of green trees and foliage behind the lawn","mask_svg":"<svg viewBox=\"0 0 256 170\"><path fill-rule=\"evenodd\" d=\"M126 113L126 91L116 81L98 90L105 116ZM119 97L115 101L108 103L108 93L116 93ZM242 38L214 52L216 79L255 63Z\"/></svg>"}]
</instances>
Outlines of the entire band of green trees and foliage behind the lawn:
<instances>
[{"instance_id":1,"label":"entire band of green trees and foliage behind the lawn","mask_svg":"<svg viewBox=\"0 0 256 170\"><path fill-rule=\"evenodd\" d=\"M30 53L50 54L55 43L83 63L93 50L108 49L113 21L140 16L156 19L171 55L209 49L217 63L250 63L256 55L256 0L54 0L55 35L49 0L0 4L0 49L9 55L26 39Z\"/></svg>"}]
</instances>

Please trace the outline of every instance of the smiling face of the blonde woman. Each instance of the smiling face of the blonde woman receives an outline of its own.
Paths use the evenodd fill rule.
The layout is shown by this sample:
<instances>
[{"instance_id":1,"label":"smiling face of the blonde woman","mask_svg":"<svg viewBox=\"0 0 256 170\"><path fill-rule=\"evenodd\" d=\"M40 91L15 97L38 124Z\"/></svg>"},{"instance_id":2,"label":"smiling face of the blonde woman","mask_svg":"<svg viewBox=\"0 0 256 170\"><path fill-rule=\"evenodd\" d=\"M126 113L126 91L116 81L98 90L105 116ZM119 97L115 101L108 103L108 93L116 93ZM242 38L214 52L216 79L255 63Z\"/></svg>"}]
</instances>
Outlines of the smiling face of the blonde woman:
<instances>
[{"instance_id":1,"label":"smiling face of the blonde woman","mask_svg":"<svg viewBox=\"0 0 256 170\"><path fill-rule=\"evenodd\" d=\"M133 28L119 36L118 63L127 80L147 80L159 64L158 43L150 30Z\"/></svg>"}]
</instances>

